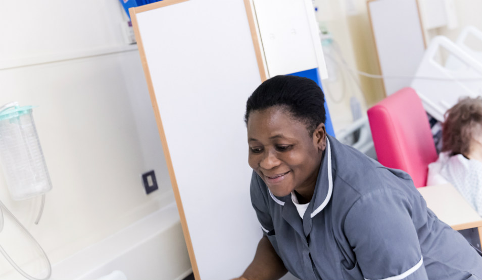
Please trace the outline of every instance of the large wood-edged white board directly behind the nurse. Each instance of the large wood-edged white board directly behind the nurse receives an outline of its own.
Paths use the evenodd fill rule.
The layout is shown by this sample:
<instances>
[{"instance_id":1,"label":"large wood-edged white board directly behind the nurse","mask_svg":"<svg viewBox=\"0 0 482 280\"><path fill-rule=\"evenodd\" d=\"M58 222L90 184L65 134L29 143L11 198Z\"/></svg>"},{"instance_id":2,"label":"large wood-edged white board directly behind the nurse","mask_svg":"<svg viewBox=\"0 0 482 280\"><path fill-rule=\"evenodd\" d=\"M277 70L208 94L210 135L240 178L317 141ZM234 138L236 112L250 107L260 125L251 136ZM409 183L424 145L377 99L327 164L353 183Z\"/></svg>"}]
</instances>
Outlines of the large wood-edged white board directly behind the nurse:
<instances>
[{"instance_id":1,"label":"large wood-edged white board directly behind the nurse","mask_svg":"<svg viewBox=\"0 0 482 280\"><path fill-rule=\"evenodd\" d=\"M238 276L262 235L244 123L261 78L244 3L189 0L136 18L199 274Z\"/></svg>"}]
</instances>

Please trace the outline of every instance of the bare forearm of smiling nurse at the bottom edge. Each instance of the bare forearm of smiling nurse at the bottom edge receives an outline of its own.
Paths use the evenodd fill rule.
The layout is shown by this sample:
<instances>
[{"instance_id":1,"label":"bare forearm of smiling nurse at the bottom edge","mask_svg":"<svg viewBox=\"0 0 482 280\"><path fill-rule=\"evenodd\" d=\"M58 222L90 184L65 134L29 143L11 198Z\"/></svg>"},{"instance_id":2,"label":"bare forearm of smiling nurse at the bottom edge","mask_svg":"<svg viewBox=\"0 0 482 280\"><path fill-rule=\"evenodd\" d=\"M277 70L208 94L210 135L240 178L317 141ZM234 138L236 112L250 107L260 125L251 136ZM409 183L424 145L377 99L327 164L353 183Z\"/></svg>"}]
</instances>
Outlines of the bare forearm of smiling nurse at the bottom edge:
<instances>
[{"instance_id":1,"label":"bare forearm of smiling nurse at the bottom edge","mask_svg":"<svg viewBox=\"0 0 482 280\"><path fill-rule=\"evenodd\" d=\"M288 270L279 258L269 239L263 235L258 243L255 257L245 272L238 279L246 280L276 280L286 274Z\"/></svg>"}]
</instances>

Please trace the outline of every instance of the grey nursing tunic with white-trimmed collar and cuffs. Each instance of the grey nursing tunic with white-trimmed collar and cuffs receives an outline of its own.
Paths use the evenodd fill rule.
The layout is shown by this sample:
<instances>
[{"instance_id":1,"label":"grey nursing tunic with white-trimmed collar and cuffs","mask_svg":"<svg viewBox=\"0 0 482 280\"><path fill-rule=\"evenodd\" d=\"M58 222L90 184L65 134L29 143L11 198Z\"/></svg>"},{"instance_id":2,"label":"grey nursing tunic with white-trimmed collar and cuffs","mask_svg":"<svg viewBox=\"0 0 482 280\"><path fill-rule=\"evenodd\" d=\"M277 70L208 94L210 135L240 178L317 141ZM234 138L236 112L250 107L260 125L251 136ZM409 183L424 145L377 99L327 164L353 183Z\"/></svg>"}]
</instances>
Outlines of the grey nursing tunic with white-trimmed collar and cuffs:
<instances>
[{"instance_id":1,"label":"grey nursing tunic with white-trimmed collar and cuffs","mask_svg":"<svg viewBox=\"0 0 482 280\"><path fill-rule=\"evenodd\" d=\"M253 172L264 234L300 279L482 279L482 256L441 222L410 176L327 136L315 192L300 218Z\"/></svg>"}]
</instances>

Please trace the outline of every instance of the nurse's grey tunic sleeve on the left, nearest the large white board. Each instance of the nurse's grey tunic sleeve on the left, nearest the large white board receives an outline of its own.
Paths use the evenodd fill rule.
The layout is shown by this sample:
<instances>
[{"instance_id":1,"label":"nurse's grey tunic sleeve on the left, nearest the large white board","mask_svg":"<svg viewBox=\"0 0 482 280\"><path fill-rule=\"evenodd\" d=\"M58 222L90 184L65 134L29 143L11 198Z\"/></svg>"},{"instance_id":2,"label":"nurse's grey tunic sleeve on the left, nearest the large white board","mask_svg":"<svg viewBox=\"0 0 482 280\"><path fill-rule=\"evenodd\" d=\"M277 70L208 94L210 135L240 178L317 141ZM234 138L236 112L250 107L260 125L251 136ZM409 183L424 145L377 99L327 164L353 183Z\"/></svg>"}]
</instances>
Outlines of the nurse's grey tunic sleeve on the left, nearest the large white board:
<instances>
[{"instance_id":1,"label":"nurse's grey tunic sleeve on the left, nearest the large white board","mask_svg":"<svg viewBox=\"0 0 482 280\"><path fill-rule=\"evenodd\" d=\"M273 220L269 214L265 185L256 172L251 176L251 204L261 225L264 235L273 234Z\"/></svg>"}]
</instances>

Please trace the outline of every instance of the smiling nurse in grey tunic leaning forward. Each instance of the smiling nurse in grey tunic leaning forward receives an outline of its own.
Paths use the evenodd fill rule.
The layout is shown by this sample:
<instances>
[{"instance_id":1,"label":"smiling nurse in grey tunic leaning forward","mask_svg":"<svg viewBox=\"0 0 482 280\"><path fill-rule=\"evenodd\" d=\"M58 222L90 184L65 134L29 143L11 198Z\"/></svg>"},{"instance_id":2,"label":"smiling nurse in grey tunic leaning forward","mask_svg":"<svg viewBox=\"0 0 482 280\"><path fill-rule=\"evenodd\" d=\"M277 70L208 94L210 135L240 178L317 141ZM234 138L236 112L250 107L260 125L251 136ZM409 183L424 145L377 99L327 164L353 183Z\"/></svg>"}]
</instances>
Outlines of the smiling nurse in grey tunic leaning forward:
<instances>
[{"instance_id":1,"label":"smiling nurse in grey tunic leaning forward","mask_svg":"<svg viewBox=\"0 0 482 280\"><path fill-rule=\"evenodd\" d=\"M251 200L263 237L240 279L482 279L482 256L410 176L326 134L315 82L276 76L248 99ZM407 112L408 113L408 112Z\"/></svg>"}]
</instances>

